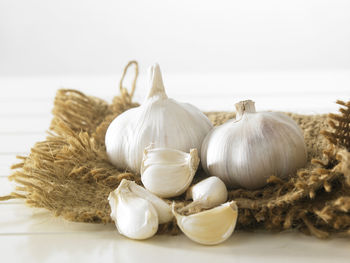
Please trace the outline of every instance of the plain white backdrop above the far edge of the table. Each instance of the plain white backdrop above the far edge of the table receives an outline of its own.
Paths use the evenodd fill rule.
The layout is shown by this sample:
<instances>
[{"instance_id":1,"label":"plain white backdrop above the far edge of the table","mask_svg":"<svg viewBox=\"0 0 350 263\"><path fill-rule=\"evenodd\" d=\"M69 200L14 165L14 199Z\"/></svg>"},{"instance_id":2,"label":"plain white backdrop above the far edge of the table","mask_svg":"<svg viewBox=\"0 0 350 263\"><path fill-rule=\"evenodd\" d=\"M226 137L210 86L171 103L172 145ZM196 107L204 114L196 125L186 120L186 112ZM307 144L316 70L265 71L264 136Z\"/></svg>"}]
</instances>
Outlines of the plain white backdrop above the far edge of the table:
<instances>
[{"instance_id":1,"label":"plain white backdrop above the far edge of the table","mask_svg":"<svg viewBox=\"0 0 350 263\"><path fill-rule=\"evenodd\" d=\"M347 0L0 0L0 75L350 68Z\"/></svg>"}]
</instances>

